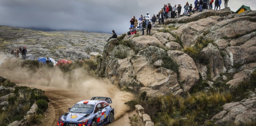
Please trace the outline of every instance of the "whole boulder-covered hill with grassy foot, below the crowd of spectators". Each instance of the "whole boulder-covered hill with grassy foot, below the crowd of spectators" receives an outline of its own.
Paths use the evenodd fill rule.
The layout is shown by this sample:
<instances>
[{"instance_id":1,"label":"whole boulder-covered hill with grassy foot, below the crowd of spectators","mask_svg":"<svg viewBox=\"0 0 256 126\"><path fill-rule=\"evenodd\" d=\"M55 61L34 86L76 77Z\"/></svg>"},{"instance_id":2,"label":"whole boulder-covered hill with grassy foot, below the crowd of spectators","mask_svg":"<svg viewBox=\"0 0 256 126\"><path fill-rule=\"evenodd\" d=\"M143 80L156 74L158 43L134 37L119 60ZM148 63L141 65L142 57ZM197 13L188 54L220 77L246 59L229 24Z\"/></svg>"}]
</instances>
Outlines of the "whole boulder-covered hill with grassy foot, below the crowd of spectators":
<instances>
[{"instance_id":1,"label":"whole boulder-covered hill with grassy foot, below the crowd of spectators","mask_svg":"<svg viewBox=\"0 0 256 126\"><path fill-rule=\"evenodd\" d=\"M98 76L135 93L127 104L159 126L253 125L255 21L256 11L204 10L124 34L105 46Z\"/></svg>"}]
</instances>

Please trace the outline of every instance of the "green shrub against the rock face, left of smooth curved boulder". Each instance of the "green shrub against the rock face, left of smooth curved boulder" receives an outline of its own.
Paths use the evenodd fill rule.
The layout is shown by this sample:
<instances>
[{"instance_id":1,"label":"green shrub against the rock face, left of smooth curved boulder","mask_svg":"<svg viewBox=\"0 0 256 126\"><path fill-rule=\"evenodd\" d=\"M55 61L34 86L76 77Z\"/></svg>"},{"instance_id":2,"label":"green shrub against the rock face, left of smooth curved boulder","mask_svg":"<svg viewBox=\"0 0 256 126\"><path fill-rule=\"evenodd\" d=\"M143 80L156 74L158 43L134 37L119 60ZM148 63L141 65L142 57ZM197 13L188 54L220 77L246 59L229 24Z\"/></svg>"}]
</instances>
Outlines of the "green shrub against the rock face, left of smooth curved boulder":
<instances>
[{"instance_id":1,"label":"green shrub against the rock face, left of smooth curved boulder","mask_svg":"<svg viewBox=\"0 0 256 126\"><path fill-rule=\"evenodd\" d=\"M175 60L173 60L168 55L164 56L162 59L163 59L162 67L173 70L175 73L177 73L177 75L179 75L178 70L180 65Z\"/></svg>"}]
</instances>

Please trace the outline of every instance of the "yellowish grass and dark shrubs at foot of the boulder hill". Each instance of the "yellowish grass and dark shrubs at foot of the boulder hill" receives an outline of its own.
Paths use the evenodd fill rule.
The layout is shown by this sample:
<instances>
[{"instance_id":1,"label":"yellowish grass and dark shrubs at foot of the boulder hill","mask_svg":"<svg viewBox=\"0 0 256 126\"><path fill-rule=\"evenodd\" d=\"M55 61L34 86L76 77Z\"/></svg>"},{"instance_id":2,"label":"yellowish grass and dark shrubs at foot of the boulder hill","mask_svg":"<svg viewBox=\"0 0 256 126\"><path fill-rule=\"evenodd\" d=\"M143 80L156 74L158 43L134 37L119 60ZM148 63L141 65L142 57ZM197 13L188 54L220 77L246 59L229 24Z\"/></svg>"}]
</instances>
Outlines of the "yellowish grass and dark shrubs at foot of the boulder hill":
<instances>
[{"instance_id":1,"label":"yellowish grass and dark shrubs at foot of the boulder hill","mask_svg":"<svg viewBox=\"0 0 256 126\"><path fill-rule=\"evenodd\" d=\"M155 126L213 126L210 120L222 111L221 106L232 101L238 102L248 95L248 91L256 88L256 70L251 78L242 81L237 87L216 81L212 87L200 77L199 84L183 95L167 94L165 96L150 96L146 92L138 94L135 100L126 102L131 110L140 104L144 112L150 115ZM255 121L243 126L255 125ZM232 126L236 126L232 124Z\"/></svg>"}]
</instances>

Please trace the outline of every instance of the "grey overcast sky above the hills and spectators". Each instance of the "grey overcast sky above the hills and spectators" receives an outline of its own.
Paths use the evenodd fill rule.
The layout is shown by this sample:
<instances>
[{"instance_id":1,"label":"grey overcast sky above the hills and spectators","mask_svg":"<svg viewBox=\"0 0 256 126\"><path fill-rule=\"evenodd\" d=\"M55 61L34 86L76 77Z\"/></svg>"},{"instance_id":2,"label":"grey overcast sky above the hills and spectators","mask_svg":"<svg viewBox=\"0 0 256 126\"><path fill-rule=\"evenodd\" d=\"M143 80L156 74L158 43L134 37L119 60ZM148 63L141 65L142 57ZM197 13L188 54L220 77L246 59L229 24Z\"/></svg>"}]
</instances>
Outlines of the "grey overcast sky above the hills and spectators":
<instances>
[{"instance_id":1,"label":"grey overcast sky above the hills and spectators","mask_svg":"<svg viewBox=\"0 0 256 126\"><path fill-rule=\"evenodd\" d=\"M184 7L187 1L195 0L0 0L0 25L122 34L132 16L153 16L163 4ZM255 0L229 0L228 7L237 11L243 4L256 9Z\"/></svg>"}]
</instances>

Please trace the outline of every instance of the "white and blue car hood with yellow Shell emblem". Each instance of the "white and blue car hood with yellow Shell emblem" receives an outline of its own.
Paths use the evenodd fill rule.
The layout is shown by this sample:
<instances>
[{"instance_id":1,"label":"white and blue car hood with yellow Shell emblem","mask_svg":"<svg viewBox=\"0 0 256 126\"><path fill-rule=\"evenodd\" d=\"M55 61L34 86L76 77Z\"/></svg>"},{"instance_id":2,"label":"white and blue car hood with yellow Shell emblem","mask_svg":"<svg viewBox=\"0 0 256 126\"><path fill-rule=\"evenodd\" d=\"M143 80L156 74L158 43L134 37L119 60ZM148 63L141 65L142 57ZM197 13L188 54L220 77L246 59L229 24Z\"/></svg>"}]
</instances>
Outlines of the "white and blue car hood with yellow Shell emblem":
<instances>
[{"instance_id":1,"label":"white and blue car hood with yellow Shell emblem","mask_svg":"<svg viewBox=\"0 0 256 126\"><path fill-rule=\"evenodd\" d=\"M91 115L91 114L68 112L68 113L63 115L64 116L63 118L66 121L77 122L77 121L80 121L82 119L85 119L85 118L89 117L89 115Z\"/></svg>"}]
</instances>

